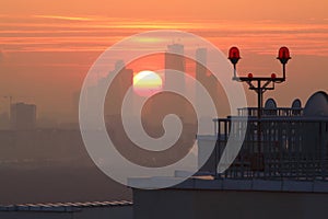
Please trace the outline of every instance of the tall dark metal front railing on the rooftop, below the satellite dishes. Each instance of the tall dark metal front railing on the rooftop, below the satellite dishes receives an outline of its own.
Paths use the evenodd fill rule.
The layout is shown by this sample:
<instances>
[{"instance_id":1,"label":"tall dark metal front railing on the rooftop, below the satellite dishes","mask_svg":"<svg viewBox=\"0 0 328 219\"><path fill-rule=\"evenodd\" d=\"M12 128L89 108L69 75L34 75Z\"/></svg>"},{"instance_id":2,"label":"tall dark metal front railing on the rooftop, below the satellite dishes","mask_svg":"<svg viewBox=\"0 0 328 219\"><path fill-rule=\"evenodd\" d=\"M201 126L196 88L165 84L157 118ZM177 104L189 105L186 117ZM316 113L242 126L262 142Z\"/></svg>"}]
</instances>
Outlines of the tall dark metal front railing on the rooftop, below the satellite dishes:
<instances>
[{"instance_id":1,"label":"tall dark metal front railing on the rooftop, below the satellite dishes","mask_svg":"<svg viewBox=\"0 0 328 219\"><path fill-rule=\"evenodd\" d=\"M215 165L231 135L245 128L243 147L233 164L220 177L293 180L328 178L328 118L303 116L214 119L218 140ZM258 135L260 125L260 135ZM260 137L260 139L258 139Z\"/></svg>"}]
</instances>

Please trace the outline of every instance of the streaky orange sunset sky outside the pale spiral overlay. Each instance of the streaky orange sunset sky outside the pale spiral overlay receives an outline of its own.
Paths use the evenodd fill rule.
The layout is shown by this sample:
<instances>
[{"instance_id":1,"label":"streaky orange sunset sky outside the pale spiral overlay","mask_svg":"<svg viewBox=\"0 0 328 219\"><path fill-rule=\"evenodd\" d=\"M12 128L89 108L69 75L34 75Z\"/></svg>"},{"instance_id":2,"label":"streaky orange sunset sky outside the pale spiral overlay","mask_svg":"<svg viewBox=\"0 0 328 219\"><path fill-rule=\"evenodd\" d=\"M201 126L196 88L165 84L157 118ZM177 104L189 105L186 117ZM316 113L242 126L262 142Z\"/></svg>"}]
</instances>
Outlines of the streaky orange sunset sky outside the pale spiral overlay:
<instances>
[{"instance_id":1,"label":"streaky orange sunset sky outside the pale spiral overlay","mask_svg":"<svg viewBox=\"0 0 328 219\"><path fill-rule=\"evenodd\" d=\"M124 37L150 30L200 35L223 53L238 46L241 74L270 76L288 46L288 81L277 85L279 106L305 104L328 91L328 1L0 1L0 95L35 103L38 116L67 120L73 96L95 59ZM250 104L255 94L247 92ZM8 100L0 99L0 114Z\"/></svg>"}]
</instances>

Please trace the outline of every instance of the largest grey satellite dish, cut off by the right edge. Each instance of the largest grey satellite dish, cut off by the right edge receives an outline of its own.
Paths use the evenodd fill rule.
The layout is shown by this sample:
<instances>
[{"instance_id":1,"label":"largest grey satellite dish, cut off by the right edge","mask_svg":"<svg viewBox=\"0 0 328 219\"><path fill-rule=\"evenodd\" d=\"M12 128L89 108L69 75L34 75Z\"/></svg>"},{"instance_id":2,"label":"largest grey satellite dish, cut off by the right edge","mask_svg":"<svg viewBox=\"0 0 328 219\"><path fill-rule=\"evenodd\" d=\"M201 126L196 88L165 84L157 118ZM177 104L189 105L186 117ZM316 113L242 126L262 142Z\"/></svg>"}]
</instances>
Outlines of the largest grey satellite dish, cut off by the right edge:
<instances>
[{"instance_id":1,"label":"largest grey satellite dish, cut off by the right edge","mask_svg":"<svg viewBox=\"0 0 328 219\"><path fill-rule=\"evenodd\" d=\"M314 93L306 102L304 116L328 116L328 95L324 91Z\"/></svg>"}]
</instances>

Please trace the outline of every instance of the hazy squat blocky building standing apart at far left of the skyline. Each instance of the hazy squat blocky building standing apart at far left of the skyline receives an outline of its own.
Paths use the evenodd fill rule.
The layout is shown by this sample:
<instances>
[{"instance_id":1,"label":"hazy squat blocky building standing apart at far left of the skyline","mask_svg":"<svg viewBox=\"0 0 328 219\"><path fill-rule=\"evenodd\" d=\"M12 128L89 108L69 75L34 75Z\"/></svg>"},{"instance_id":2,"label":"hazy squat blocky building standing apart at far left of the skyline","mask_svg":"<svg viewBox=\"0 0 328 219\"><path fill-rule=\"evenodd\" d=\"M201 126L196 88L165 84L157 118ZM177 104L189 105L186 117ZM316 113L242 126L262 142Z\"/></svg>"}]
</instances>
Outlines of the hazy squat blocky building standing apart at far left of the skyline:
<instances>
[{"instance_id":1,"label":"hazy squat blocky building standing apart at far left of the skyline","mask_svg":"<svg viewBox=\"0 0 328 219\"><path fill-rule=\"evenodd\" d=\"M14 103L10 106L10 124L14 130L32 130L36 127L36 105Z\"/></svg>"}]
</instances>

